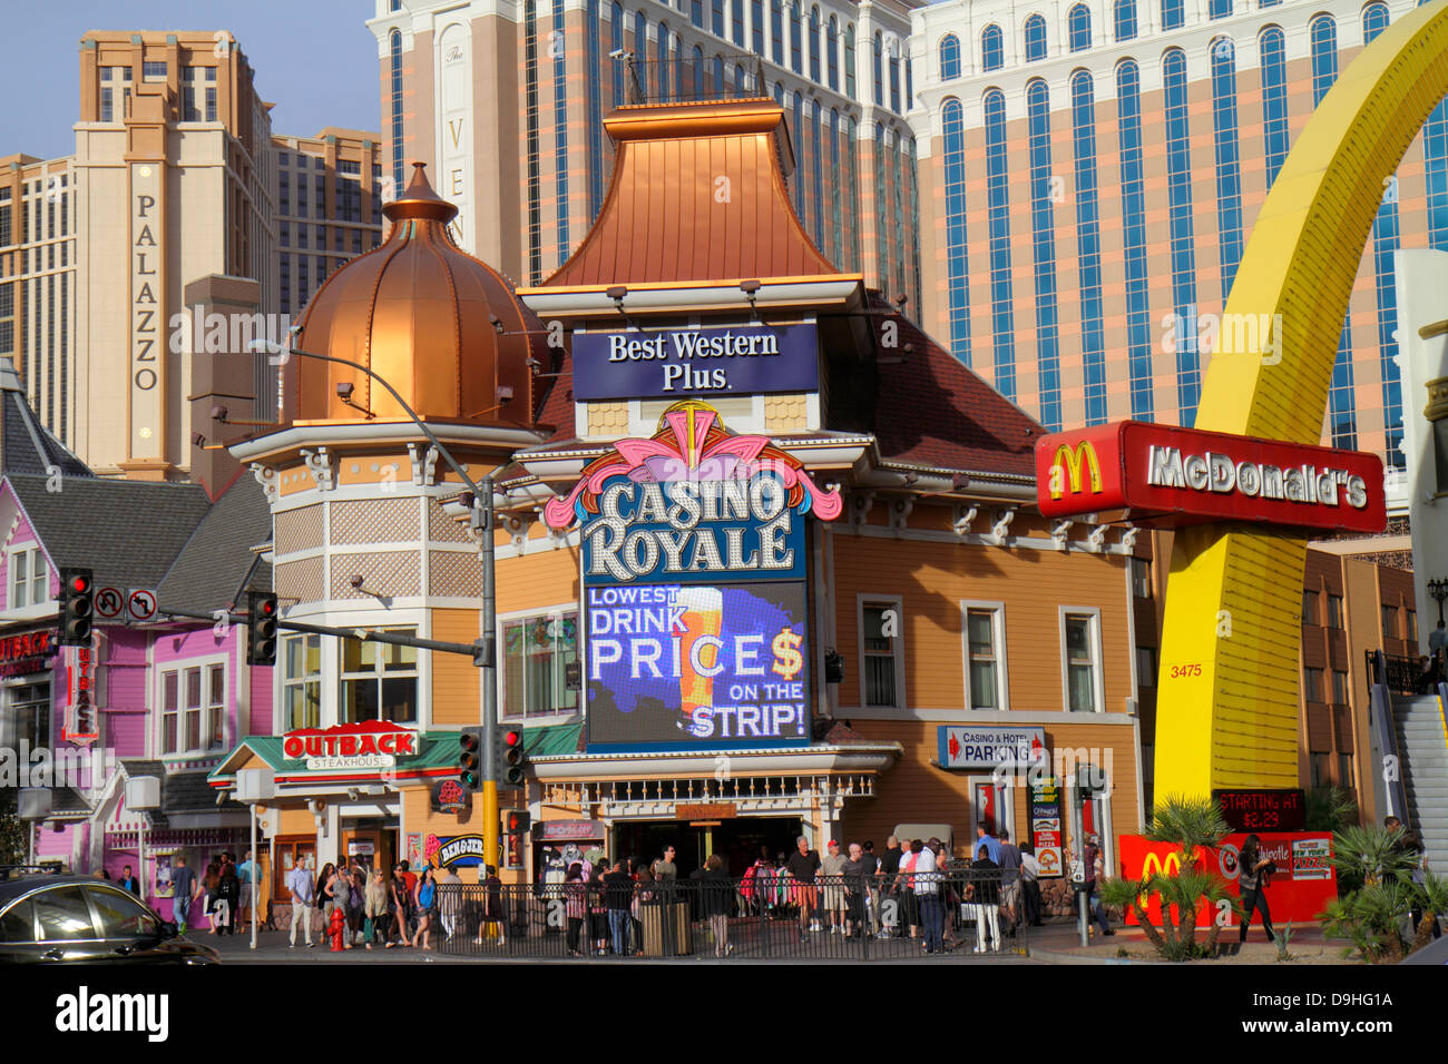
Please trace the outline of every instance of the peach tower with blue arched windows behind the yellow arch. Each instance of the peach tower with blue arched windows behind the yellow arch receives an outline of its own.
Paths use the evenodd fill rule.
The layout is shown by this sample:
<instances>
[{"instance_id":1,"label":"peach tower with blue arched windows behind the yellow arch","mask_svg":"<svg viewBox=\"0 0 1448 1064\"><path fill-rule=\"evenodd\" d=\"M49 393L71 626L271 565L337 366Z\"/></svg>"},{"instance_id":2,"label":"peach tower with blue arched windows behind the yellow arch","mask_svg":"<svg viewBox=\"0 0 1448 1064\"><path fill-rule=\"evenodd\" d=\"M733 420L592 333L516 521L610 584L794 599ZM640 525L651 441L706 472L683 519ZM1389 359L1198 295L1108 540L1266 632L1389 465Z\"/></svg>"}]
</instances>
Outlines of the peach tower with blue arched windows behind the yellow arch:
<instances>
[{"instance_id":1,"label":"peach tower with blue arched windows behind the yellow arch","mask_svg":"<svg viewBox=\"0 0 1448 1064\"><path fill-rule=\"evenodd\" d=\"M1047 427L1190 426L1247 235L1318 101L1412 9L1300 0L914 12L924 326ZM1442 111L1442 109L1439 109ZM1403 468L1393 252L1438 246L1444 116L1363 252L1322 439ZM1406 481L1390 507L1406 508Z\"/></svg>"}]
</instances>

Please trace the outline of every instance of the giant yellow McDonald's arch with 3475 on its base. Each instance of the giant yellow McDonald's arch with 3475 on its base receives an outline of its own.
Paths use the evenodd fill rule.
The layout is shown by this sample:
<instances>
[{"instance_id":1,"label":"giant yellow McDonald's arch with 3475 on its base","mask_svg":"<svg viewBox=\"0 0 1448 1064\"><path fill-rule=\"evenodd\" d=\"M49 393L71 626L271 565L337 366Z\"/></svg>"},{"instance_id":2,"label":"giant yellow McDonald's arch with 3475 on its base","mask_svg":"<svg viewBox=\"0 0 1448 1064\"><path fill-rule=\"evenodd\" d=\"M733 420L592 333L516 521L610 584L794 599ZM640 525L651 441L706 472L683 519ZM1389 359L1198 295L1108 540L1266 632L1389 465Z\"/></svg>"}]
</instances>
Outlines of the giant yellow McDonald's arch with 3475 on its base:
<instances>
[{"instance_id":1,"label":"giant yellow McDonald's arch with 3475 on its base","mask_svg":"<svg viewBox=\"0 0 1448 1064\"><path fill-rule=\"evenodd\" d=\"M1225 320L1266 313L1280 327L1270 337L1222 332L1197 428L1321 439L1383 181L1445 94L1448 0L1405 14L1342 71L1273 182L1226 300ZM1300 539L1228 525L1177 533L1157 680L1157 793L1297 786L1305 560ZM1186 663L1202 667L1173 675Z\"/></svg>"}]
</instances>

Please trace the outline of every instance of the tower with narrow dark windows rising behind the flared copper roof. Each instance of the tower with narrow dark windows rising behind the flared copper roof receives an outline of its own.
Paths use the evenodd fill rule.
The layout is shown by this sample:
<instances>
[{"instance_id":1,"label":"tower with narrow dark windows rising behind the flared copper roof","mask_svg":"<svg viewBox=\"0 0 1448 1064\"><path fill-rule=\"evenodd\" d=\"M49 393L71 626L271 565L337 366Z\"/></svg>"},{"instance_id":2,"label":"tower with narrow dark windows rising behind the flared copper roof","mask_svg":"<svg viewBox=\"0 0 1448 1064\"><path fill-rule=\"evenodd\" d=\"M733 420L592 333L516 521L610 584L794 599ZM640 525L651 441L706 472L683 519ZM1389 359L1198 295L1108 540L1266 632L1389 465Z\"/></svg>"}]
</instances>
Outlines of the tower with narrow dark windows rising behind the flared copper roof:
<instances>
[{"instance_id":1,"label":"tower with narrow dark windows rising behind the flared copper roof","mask_svg":"<svg viewBox=\"0 0 1448 1064\"><path fill-rule=\"evenodd\" d=\"M602 117L637 97L772 96L805 233L841 269L919 305L915 143L905 113L918 0L378 0L384 185L433 166L459 245L539 284L602 210ZM718 175L717 175L718 177ZM730 195L724 185L714 188Z\"/></svg>"}]
</instances>

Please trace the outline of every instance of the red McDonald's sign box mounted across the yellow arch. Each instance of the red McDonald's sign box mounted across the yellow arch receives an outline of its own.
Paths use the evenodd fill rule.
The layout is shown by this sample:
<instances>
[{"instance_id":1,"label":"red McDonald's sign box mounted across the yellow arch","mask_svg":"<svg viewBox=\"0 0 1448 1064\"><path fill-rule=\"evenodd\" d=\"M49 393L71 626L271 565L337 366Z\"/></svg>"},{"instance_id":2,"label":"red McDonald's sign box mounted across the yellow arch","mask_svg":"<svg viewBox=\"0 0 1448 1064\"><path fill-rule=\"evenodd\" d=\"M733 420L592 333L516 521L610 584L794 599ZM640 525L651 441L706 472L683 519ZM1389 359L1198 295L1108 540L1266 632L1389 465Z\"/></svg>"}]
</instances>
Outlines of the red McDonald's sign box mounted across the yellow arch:
<instances>
[{"instance_id":1,"label":"red McDonald's sign box mounted across the yellow arch","mask_svg":"<svg viewBox=\"0 0 1448 1064\"><path fill-rule=\"evenodd\" d=\"M1157 528L1250 521L1361 533L1387 523L1376 455L1145 421L1043 436L1035 478L1045 517L1109 514Z\"/></svg>"}]
</instances>

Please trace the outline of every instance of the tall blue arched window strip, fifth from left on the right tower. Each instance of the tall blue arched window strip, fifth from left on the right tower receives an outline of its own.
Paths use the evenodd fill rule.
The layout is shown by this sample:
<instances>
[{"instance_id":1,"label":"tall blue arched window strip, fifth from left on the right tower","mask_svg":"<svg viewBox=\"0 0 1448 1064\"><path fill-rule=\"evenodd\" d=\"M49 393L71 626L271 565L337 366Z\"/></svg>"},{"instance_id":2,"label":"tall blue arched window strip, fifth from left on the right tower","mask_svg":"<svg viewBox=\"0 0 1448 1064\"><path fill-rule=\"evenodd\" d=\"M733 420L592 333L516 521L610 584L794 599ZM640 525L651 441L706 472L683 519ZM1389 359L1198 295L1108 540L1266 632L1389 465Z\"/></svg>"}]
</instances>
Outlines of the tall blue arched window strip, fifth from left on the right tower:
<instances>
[{"instance_id":1,"label":"tall blue arched window strip, fifth from left on the right tower","mask_svg":"<svg viewBox=\"0 0 1448 1064\"><path fill-rule=\"evenodd\" d=\"M1141 71L1132 59L1116 65L1116 142L1121 148L1121 232L1127 276L1127 369L1131 415L1156 417L1151 395L1151 301L1147 276L1147 197L1141 165Z\"/></svg>"}]
</instances>

